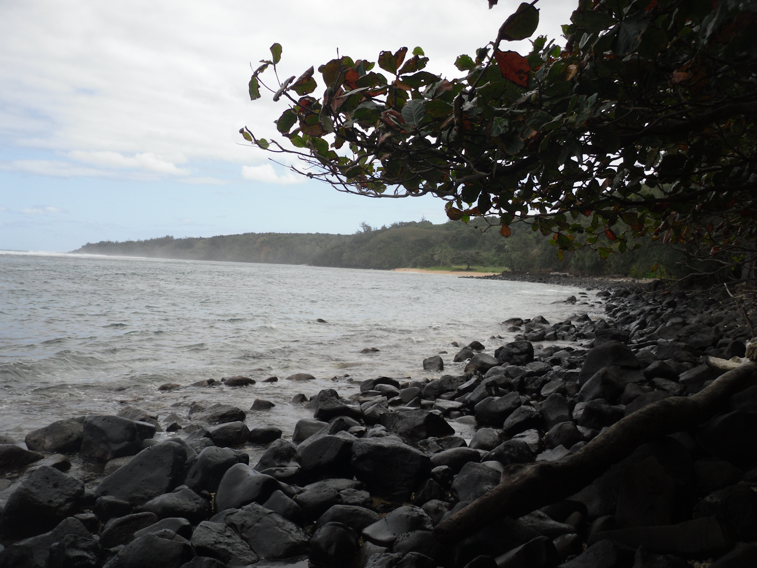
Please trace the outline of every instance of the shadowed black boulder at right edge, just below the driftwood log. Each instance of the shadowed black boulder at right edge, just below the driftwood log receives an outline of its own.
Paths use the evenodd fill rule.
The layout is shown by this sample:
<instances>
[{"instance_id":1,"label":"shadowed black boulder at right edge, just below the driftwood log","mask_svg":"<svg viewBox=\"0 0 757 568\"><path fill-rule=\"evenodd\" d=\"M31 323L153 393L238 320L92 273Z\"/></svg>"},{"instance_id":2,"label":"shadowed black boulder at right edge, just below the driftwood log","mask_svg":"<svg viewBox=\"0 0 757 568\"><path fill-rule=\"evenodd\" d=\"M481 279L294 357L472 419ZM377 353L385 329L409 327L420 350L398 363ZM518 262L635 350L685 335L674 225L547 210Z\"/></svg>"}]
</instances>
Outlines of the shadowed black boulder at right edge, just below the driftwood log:
<instances>
[{"instance_id":1,"label":"shadowed black boulder at right edge, just below the driftwood log","mask_svg":"<svg viewBox=\"0 0 757 568\"><path fill-rule=\"evenodd\" d=\"M696 441L715 457L737 466L757 461L757 414L734 410L702 424Z\"/></svg>"}]
</instances>

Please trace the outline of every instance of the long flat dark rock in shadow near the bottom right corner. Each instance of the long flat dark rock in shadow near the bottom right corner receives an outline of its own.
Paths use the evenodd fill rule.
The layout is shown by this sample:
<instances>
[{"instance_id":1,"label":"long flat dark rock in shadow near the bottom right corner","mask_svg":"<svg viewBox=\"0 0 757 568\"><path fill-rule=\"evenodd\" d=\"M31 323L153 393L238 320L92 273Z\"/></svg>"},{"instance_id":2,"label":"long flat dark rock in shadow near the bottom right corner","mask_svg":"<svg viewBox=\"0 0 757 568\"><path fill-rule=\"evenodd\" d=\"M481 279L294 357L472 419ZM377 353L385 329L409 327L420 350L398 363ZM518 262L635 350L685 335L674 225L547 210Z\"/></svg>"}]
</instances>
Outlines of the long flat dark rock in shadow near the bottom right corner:
<instances>
[{"instance_id":1,"label":"long flat dark rock in shadow near the bottom right corner","mask_svg":"<svg viewBox=\"0 0 757 568\"><path fill-rule=\"evenodd\" d=\"M659 554L675 554L691 557L718 554L733 543L721 523L715 517L703 517L665 526L637 526L597 532L589 539L589 544L609 538L621 545Z\"/></svg>"}]
</instances>

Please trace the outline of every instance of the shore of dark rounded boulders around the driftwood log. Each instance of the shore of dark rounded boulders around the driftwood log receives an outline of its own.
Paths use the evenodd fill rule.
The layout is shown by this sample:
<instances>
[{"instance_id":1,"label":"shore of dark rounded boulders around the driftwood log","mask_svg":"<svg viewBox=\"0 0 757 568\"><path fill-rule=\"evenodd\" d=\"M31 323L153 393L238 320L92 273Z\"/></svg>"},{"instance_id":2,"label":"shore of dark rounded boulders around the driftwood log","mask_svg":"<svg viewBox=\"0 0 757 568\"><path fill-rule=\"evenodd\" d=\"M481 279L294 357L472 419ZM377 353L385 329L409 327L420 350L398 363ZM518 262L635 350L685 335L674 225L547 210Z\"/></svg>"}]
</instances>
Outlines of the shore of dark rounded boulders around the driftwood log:
<instances>
[{"instance_id":1,"label":"shore of dark rounded boulders around the driftwood log","mask_svg":"<svg viewBox=\"0 0 757 568\"><path fill-rule=\"evenodd\" d=\"M737 307L592 282L603 289L567 301L599 299L602 319L512 317L492 331L514 342L453 346L463 374L429 354L422 366L438 379L298 395L291 440L201 402L72 417L24 445L0 434L0 568L757 566L757 385L693 429L627 448L575 495L439 538L509 464L559 463L645 407L702 392L746 354L753 295Z\"/></svg>"}]
</instances>

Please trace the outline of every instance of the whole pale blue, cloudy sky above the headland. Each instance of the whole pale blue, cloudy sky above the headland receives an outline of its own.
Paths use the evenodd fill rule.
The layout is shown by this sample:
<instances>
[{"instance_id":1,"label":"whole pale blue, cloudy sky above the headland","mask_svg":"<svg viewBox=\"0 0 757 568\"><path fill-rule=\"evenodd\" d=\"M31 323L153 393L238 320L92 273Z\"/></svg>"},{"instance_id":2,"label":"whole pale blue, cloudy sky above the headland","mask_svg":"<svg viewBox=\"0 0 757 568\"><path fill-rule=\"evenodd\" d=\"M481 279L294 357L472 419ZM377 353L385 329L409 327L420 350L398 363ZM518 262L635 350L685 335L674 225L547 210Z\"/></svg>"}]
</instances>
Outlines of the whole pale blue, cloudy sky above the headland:
<instances>
[{"instance_id":1,"label":"whole pale blue, cloudy sky above the headland","mask_svg":"<svg viewBox=\"0 0 757 568\"><path fill-rule=\"evenodd\" d=\"M536 35L562 42L559 26L575 4L540 0ZM251 65L270 57L273 42L283 46L282 77L317 69L337 49L375 61L379 51L419 45L427 70L460 76L456 56L494 39L518 5L0 1L0 249L443 223L443 203L431 196L345 195L244 145L241 126L276 137L285 108L270 95L250 101ZM530 44L507 48L525 54Z\"/></svg>"}]
</instances>

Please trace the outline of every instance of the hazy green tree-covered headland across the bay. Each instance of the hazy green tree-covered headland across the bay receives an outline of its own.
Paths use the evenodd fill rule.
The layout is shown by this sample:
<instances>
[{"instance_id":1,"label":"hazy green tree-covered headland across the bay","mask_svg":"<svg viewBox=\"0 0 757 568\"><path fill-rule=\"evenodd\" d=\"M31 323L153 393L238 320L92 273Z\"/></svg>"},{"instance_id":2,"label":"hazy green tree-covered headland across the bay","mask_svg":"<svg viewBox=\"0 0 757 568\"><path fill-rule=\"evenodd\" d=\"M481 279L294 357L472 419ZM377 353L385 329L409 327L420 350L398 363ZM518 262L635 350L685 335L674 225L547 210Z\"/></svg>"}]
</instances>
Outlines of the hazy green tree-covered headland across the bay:
<instances>
[{"instance_id":1,"label":"hazy green tree-covered headland across the bay","mask_svg":"<svg viewBox=\"0 0 757 568\"><path fill-rule=\"evenodd\" d=\"M662 242L610 254L603 260L584 249L558 259L556 248L525 223L514 223L503 239L486 228L485 219L470 224L427 220L373 228L362 223L353 235L328 233L244 233L87 243L76 253L176 258L201 261L311 264L322 267L392 268L496 267L513 272L570 272L584 276L622 274L640 277L681 277L683 255Z\"/></svg>"}]
</instances>

